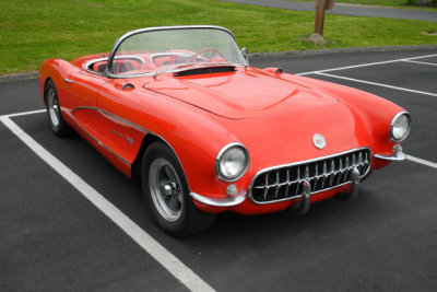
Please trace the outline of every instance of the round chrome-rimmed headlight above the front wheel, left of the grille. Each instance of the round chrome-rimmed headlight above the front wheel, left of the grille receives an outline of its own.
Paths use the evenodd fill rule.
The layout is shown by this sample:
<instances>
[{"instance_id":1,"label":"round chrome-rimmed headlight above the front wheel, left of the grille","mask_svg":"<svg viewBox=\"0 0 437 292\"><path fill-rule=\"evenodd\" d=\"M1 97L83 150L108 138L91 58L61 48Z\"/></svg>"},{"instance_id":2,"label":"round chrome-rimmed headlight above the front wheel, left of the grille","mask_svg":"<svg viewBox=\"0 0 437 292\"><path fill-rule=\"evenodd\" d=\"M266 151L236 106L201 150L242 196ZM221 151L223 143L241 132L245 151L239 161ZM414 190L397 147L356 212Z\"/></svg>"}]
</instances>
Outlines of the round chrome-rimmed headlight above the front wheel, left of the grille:
<instances>
[{"instance_id":1,"label":"round chrome-rimmed headlight above the front wheel, left of the grille","mask_svg":"<svg viewBox=\"0 0 437 292\"><path fill-rule=\"evenodd\" d=\"M249 154L240 143L225 145L215 159L215 173L226 182L240 178L249 166Z\"/></svg>"}]
</instances>

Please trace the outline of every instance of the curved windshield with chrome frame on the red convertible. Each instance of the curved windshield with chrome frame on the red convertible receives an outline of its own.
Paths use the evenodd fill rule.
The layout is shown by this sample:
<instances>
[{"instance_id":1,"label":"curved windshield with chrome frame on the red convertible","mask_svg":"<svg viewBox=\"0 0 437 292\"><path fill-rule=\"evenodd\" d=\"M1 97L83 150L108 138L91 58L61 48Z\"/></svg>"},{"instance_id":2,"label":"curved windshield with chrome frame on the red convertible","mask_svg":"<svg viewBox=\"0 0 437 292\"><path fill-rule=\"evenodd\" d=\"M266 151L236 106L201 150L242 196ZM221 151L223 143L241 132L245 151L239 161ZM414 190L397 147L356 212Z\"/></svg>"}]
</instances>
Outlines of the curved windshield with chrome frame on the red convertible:
<instances>
[{"instance_id":1,"label":"curved windshield with chrome frame on the red convertible","mask_svg":"<svg viewBox=\"0 0 437 292\"><path fill-rule=\"evenodd\" d=\"M109 65L115 77L246 65L233 35L221 27L140 30L120 39Z\"/></svg>"}]
</instances>

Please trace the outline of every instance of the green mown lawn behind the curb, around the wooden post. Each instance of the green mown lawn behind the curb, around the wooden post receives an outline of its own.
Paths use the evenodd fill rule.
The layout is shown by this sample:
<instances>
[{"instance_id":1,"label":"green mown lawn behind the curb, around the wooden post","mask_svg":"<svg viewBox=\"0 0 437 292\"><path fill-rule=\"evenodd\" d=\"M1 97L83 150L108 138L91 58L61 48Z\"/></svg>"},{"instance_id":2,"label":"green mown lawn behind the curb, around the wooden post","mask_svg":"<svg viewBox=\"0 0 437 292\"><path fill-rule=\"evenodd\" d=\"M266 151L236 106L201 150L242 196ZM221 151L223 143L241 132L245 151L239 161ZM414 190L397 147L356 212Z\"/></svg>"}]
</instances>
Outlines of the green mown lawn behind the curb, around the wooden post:
<instances>
[{"instance_id":1,"label":"green mown lawn behind the curb, around the wooden post","mask_svg":"<svg viewBox=\"0 0 437 292\"><path fill-rule=\"evenodd\" d=\"M214 0L24 0L0 2L0 74L35 71L48 58L109 51L123 33L146 26L213 24L234 32L249 51L436 44L422 32L436 22L327 15L323 47L305 42L314 12Z\"/></svg>"}]
</instances>

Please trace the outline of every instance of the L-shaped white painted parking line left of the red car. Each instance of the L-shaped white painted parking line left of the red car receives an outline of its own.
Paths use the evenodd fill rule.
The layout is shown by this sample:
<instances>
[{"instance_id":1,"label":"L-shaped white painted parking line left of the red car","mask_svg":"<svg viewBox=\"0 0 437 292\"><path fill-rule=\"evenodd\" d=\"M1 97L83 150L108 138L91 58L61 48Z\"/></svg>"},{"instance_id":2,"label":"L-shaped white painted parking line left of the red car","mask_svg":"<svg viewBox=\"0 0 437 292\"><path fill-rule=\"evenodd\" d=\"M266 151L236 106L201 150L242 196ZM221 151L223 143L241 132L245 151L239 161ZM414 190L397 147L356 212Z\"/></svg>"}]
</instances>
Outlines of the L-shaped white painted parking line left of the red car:
<instances>
[{"instance_id":1,"label":"L-shaped white painted parking line left of the red car","mask_svg":"<svg viewBox=\"0 0 437 292\"><path fill-rule=\"evenodd\" d=\"M86 182L84 182L79 175L73 173L62 162L51 155L46 149L44 149L38 142L25 133L23 129L21 129L10 119L12 116L23 116L42 112L44 110L0 116L0 120L39 157L42 157L60 176L62 176L75 189L78 189L86 199L88 199L114 223L116 223L126 234L128 234L137 244L139 244L146 253L149 253L157 262L160 262L188 289L191 291L214 291L214 289L204 282L190 268L188 268L164 246L156 242L151 235L138 226L132 220L130 220L129 217L122 213L98 191L86 184Z\"/></svg>"}]
</instances>

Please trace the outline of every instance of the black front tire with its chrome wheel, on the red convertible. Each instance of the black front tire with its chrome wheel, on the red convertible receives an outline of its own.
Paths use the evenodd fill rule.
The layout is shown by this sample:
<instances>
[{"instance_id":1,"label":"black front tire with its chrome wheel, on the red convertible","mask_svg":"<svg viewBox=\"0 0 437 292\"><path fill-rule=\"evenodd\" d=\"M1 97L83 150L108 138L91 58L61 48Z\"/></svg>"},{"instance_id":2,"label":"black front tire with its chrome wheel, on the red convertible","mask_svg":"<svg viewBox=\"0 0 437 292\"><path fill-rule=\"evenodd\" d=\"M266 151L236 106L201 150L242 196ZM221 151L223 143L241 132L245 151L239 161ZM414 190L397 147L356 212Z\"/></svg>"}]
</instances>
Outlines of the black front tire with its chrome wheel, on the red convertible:
<instances>
[{"instance_id":1,"label":"black front tire with its chrome wheel, on the red convertible","mask_svg":"<svg viewBox=\"0 0 437 292\"><path fill-rule=\"evenodd\" d=\"M141 183L154 220L168 234L176 237L193 235L214 222L215 214L196 208L182 167L163 142L154 142L145 151Z\"/></svg>"}]
</instances>

